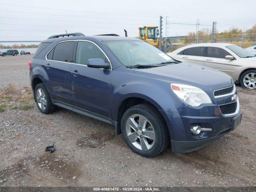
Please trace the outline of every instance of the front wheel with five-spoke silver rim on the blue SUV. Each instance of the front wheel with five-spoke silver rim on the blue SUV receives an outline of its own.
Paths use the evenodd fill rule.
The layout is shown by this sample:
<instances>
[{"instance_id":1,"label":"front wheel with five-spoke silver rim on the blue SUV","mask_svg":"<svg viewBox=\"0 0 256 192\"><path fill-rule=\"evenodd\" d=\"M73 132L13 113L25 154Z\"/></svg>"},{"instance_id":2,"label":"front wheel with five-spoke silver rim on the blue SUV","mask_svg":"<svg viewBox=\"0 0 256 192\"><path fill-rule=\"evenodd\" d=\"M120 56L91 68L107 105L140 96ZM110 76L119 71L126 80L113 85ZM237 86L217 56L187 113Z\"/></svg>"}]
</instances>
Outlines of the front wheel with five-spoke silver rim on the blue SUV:
<instances>
[{"instance_id":1,"label":"front wheel with five-spoke silver rim on the blue SUV","mask_svg":"<svg viewBox=\"0 0 256 192\"><path fill-rule=\"evenodd\" d=\"M129 108L122 117L121 130L131 150L144 157L160 154L169 143L164 119L156 108L148 104Z\"/></svg>"}]
</instances>

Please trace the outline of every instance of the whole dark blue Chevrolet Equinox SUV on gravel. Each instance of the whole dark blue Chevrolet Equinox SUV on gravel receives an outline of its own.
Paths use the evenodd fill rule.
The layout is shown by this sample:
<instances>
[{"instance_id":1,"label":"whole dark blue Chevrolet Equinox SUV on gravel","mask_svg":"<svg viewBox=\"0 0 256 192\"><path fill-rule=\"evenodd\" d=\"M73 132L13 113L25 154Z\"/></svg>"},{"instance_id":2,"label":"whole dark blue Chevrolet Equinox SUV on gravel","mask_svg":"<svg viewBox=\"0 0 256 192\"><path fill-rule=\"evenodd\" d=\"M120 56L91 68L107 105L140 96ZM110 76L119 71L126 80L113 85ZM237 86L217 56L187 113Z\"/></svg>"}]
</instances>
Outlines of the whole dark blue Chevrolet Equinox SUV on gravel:
<instances>
[{"instance_id":1,"label":"whole dark blue Chevrolet Equinox SUV on gravel","mask_svg":"<svg viewBox=\"0 0 256 192\"><path fill-rule=\"evenodd\" d=\"M170 144L191 152L241 121L232 78L179 62L137 38L81 33L51 36L29 62L38 109L57 106L107 122L135 153L153 157Z\"/></svg>"}]
</instances>

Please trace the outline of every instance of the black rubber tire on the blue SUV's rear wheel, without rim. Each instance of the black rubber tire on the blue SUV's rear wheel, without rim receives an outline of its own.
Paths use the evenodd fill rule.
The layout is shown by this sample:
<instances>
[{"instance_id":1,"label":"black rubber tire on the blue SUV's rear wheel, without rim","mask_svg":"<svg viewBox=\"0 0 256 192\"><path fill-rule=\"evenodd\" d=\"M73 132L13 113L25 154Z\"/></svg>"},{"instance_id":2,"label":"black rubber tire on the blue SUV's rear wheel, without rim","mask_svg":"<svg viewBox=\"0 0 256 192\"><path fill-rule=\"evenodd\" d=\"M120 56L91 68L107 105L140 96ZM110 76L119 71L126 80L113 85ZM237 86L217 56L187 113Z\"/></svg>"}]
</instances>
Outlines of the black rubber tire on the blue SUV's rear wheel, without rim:
<instances>
[{"instance_id":1,"label":"black rubber tire on the blue SUV's rear wheel, without rim","mask_svg":"<svg viewBox=\"0 0 256 192\"><path fill-rule=\"evenodd\" d=\"M36 92L39 88L44 91L45 98L46 98L46 108L44 110L39 107L37 99L36 99ZM36 100L36 105L37 105L38 109L40 110L40 112L42 112L44 114L49 114L49 113L52 113L52 112L56 111L57 106L52 104L52 100L50 98L50 95L49 95L49 93L46 89L46 86L43 83L40 83L40 84L36 85L35 90L34 90L34 98Z\"/></svg>"}]
</instances>

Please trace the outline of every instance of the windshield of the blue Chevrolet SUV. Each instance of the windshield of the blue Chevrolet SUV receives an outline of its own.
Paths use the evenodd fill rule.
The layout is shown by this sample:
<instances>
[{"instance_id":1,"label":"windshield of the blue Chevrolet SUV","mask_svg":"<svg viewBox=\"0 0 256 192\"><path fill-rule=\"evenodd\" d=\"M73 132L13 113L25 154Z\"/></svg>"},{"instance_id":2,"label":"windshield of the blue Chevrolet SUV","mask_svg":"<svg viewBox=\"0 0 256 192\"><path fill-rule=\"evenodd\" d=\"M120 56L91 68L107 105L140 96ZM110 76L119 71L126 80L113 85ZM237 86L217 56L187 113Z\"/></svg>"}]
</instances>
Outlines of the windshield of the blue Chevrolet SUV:
<instances>
[{"instance_id":1,"label":"windshield of the blue Chevrolet SUV","mask_svg":"<svg viewBox=\"0 0 256 192\"><path fill-rule=\"evenodd\" d=\"M104 44L124 66L174 62L170 56L141 40L113 40L105 41Z\"/></svg>"}]
</instances>

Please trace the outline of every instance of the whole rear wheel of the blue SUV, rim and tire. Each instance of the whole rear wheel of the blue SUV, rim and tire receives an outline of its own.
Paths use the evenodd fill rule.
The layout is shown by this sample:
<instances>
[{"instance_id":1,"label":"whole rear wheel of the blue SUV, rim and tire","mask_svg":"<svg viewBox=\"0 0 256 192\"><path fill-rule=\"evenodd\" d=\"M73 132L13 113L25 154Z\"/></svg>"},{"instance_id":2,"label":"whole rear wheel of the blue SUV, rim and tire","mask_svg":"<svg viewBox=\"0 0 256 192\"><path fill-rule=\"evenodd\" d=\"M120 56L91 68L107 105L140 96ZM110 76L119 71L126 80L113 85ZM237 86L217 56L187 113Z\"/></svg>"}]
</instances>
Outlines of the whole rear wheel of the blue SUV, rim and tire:
<instances>
[{"instance_id":1,"label":"whole rear wheel of the blue SUV, rim and tire","mask_svg":"<svg viewBox=\"0 0 256 192\"><path fill-rule=\"evenodd\" d=\"M48 114L56 110L57 106L52 104L50 95L43 83L36 85L34 97L36 99L36 105L42 113Z\"/></svg>"}]
</instances>

